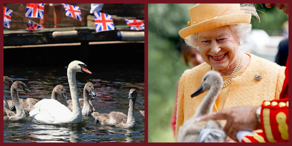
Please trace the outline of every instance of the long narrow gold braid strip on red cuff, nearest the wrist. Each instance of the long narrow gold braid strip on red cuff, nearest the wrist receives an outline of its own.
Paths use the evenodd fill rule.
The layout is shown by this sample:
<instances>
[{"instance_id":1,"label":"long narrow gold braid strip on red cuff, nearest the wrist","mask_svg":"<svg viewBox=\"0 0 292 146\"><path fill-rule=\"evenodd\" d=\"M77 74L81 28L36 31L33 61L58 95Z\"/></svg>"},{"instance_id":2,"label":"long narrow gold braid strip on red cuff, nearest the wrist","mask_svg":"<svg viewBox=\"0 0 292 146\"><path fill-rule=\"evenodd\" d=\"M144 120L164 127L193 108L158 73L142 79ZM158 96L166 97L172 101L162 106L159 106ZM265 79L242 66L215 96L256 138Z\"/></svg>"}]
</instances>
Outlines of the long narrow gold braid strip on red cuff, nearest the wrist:
<instances>
[{"instance_id":1,"label":"long narrow gold braid strip on red cuff, nearest the wrist","mask_svg":"<svg viewBox=\"0 0 292 146\"><path fill-rule=\"evenodd\" d=\"M263 109L263 124L264 124L264 128L265 128L265 134L267 136L267 140L269 142L277 142L274 139L274 136L272 134L272 128L271 128L271 124L270 124L270 109L268 109L268 108Z\"/></svg>"}]
</instances>

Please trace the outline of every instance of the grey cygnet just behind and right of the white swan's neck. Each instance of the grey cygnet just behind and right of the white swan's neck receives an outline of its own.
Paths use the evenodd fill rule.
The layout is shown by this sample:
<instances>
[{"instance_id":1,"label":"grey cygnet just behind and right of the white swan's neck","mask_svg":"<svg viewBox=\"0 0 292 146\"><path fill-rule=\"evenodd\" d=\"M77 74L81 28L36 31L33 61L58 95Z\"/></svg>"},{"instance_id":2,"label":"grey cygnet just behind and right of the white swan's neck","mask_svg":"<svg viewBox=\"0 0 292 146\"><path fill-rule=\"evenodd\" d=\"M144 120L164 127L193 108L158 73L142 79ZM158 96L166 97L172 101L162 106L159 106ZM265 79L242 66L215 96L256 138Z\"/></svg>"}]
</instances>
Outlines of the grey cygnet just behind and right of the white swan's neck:
<instances>
[{"instance_id":1,"label":"grey cygnet just behind and right of the white swan's neck","mask_svg":"<svg viewBox=\"0 0 292 146\"><path fill-rule=\"evenodd\" d=\"M83 90L83 98L79 98L80 108L82 109L83 116L90 116L91 111L95 111L95 108L92 106L91 101L88 99L89 93L94 98L96 96L94 92L94 85L91 82L87 82ZM72 111L72 100L67 100L68 108Z\"/></svg>"}]
</instances>

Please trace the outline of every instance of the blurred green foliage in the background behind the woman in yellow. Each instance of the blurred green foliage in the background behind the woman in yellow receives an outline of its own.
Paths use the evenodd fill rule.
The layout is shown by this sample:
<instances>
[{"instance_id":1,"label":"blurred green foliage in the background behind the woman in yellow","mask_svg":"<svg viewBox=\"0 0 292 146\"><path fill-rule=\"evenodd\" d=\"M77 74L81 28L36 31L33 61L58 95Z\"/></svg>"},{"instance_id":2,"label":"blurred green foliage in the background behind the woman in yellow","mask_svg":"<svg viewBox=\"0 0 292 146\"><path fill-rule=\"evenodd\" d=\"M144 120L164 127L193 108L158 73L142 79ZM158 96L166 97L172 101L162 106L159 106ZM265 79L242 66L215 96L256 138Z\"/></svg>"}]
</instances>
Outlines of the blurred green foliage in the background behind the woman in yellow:
<instances>
[{"instance_id":1,"label":"blurred green foliage in the background behind the woman in yellow","mask_svg":"<svg viewBox=\"0 0 292 146\"><path fill-rule=\"evenodd\" d=\"M148 142L174 142L170 121L176 85L188 69L177 49L183 42L178 31L189 26L189 9L194 5L148 4ZM252 20L253 29L279 35L288 15L275 7L268 9L265 4L256 7L260 24Z\"/></svg>"}]
</instances>

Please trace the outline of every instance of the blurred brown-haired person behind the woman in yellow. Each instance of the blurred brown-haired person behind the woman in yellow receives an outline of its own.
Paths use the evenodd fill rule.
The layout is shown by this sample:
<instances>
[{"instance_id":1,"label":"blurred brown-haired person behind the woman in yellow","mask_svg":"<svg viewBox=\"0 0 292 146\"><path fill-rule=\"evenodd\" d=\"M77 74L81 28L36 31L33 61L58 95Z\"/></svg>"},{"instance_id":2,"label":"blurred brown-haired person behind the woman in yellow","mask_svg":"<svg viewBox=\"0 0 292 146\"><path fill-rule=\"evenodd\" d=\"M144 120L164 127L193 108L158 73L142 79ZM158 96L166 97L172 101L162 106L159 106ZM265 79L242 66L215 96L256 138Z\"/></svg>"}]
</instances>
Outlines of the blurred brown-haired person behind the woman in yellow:
<instances>
[{"instance_id":1,"label":"blurred brown-haired person behind the woman in yellow","mask_svg":"<svg viewBox=\"0 0 292 146\"><path fill-rule=\"evenodd\" d=\"M187 67L195 67L205 62L203 58L201 57L199 51L195 48L192 48L191 46L187 46L185 42L180 43L178 47L178 51L180 51L180 57ZM178 80L178 83L176 86L175 105L174 105L174 111L171 117L171 127L173 129L174 135L175 135L175 119L176 119L176 101L178 98L179 83L180 83L180 80Z\"/></svg>"}]
</instances>

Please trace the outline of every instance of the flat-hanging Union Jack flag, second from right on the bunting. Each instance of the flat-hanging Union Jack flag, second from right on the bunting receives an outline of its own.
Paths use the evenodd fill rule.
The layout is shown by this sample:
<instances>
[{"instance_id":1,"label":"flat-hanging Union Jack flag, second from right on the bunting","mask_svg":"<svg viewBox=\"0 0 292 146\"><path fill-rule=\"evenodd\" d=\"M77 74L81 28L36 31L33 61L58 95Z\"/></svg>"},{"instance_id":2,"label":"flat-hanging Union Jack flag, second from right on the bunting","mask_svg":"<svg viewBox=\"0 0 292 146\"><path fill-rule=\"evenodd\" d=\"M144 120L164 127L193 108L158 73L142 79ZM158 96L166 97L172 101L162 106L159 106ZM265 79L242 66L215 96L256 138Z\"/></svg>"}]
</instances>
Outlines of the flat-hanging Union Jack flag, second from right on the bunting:
<instances>
[{"instance_id":1,"label":"flat-hanging Union Jack flag, second from right on the bunting","mask_svg":"<svg viewBox=\"0 0 292 146\"><path fill-rule=\"evenodd\" d=\"M114 30L114 21L109 14L94 12L94 22L96 32Z\"/></svg>"}]
</instances>

